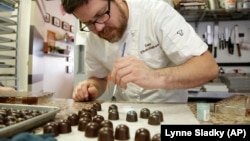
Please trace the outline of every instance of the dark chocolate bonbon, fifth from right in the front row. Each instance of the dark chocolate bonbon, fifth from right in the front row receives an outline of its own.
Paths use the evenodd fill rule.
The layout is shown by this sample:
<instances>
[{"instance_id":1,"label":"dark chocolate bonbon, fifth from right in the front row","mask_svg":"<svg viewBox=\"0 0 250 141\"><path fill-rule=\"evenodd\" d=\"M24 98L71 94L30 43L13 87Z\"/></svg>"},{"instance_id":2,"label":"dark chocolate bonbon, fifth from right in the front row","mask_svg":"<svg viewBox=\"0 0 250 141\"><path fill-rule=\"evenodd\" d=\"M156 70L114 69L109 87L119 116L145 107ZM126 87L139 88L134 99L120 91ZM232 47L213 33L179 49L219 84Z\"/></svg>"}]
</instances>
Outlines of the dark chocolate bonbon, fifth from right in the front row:
<instances>
[{"instance_id":1,"label":"dark chocolate bonbon, fifth from right in the front row","mask_svg":"<svg viewBox=\"0 0 250 141\"><path fill-rule=\"evenodd\" d=\"M85 137L97 137L100 125L96 122L89 122L85 127Z\"/></svg>"}]
</instances>

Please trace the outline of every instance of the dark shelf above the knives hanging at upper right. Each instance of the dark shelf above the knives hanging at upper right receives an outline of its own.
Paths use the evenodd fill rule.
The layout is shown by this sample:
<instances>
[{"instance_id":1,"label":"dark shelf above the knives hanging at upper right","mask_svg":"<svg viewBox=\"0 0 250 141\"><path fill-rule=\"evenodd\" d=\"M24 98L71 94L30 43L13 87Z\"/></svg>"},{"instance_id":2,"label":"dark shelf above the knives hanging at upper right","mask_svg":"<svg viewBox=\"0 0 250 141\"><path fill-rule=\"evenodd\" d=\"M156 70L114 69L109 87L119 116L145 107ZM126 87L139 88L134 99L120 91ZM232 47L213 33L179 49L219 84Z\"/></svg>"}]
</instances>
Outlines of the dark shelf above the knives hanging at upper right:
<instances>
[{"instance_id":1,"label":"dark shelf above the knives hanging at upper right","mask_svg":"<svg viewBox=\"0 0 250 141\"><path fill-rule=\"evenodd\" d=\"M179 10L188 22L250 20L250 9Z\"/></svg>"}]
</instances>

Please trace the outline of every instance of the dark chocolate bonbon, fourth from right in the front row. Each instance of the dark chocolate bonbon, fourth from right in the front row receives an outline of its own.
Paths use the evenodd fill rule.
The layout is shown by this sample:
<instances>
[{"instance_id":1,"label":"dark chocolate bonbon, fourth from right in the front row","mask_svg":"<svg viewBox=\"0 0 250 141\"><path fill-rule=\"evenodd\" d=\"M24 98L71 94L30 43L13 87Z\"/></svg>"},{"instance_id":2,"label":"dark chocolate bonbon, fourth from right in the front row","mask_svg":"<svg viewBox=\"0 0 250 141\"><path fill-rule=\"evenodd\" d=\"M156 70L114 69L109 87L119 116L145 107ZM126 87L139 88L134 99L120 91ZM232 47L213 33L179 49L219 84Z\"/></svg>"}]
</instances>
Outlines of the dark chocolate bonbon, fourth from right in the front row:
<instances>
[{"instance_id":1,"label":"dark chocolate bonbon, fourth from right in the front row","mask_svg":"<svg viewBox=\"0 0 250 141\"><path fill-rule=\"evenodd\" d=\"M114 133L110 127L102 127L98 132L98 141L114 141Z\"/></svg>"}]
</instances>

